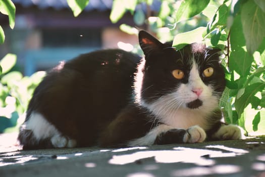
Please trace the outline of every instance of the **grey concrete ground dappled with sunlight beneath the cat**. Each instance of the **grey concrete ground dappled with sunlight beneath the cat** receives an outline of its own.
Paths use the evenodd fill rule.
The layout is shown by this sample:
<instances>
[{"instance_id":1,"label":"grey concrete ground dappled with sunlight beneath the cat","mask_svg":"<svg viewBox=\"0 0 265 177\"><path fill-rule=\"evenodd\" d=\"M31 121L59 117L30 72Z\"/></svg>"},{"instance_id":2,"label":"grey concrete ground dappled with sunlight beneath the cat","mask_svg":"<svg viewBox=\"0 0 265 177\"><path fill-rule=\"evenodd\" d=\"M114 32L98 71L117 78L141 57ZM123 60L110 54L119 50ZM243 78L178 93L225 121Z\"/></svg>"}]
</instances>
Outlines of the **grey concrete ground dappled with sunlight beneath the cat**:
<instances>
[{"instance_id":1,"label":"grey concrete ground dappled with sunlight beneath the cat","mask_svg":"<svg viewBox=\"0 0 265 177\"><path fill-rule=\"evenodd\" d=\"M102 149L22 151L0 136L0 176L265 177L265 137L236 141Z\"/></svg>"}]
</instances>

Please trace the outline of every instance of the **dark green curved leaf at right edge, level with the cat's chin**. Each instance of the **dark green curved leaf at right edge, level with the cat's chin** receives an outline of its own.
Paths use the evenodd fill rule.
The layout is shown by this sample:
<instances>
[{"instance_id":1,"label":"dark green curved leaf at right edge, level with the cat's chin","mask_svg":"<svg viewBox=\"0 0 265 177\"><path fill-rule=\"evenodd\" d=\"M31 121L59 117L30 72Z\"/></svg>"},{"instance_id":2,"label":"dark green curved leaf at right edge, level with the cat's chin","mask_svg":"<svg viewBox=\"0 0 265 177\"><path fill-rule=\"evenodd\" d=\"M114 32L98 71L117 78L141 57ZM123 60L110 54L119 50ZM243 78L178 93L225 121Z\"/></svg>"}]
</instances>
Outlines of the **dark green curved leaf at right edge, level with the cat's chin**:
<instances>
[{"instance_id":1,"label":"dark green curved leaf at right edge, level with the cat's chin","mask_svg":"<svg viewBox=\"0 0 265 177\"><path fill-rule=\"evenodd\" d=\"M251 99L255 96L257 92L261 92L265 87L265 83L254 83L252 85L246 86L244 94L235 100L235 108L238 117L241 116L245 107L251 102Z\"/></svg>"}]
</instances>

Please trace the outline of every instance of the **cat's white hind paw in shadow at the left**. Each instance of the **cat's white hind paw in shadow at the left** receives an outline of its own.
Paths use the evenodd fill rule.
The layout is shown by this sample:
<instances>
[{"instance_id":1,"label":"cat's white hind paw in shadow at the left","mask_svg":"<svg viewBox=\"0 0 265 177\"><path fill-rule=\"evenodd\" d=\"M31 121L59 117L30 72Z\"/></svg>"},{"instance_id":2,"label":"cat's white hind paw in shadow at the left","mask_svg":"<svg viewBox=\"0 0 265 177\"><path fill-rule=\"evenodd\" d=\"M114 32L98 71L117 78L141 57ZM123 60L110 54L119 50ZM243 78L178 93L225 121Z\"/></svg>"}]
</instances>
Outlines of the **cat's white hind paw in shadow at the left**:
<instances>
[{"instance_id":1,"label":"cat's white hind paw in shadow at the left","mask_svg":"<svg viewBox=\"0 0 265 177\"><path fill-rule=\"evenodd\" d=\"M55 148L74 148L77 144L75 140L68 139L61 135L53 136L50 141Z\"/></svg>"}]
</instances>

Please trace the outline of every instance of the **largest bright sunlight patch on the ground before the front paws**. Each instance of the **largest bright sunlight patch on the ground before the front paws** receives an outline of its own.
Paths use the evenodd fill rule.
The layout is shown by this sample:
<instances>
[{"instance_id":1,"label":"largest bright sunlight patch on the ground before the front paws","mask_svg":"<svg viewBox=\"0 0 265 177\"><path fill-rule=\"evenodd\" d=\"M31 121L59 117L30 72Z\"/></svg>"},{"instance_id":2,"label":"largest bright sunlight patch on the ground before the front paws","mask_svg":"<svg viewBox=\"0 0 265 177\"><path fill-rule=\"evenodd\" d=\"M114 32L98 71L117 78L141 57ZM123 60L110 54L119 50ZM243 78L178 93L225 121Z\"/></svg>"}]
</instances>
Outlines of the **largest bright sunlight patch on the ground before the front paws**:
<instances>
[{"instance_id":1,"label":"largest bright sunlight patch on the ground before the front paws","mask_svg":"<svg viewBox=\"0 0 265 177\"><path fill-rule=\"evenodd\" d=\"M138 148L138 147L137 147ZM137 149L136 148L136 149ZM206 148L214 148L220 150L206 150L206 149L195 149L195 148L184 148L176 147L173 150L158 150L158 151L140 151L125 155L114 155L109 160L110 164L124 165L133 163L141 159L153 157L157 163L194 163L200 166L213 166L216 164L214 157L235 157L248 153L243 149L229 148L225 146L206 146ZM129 150L130 148L124 148L115 150L113 152L122 152ZM223 152L221 150L230 151ZM209 158L205 158L209 157Z\"/></svg>"}]
</instances>

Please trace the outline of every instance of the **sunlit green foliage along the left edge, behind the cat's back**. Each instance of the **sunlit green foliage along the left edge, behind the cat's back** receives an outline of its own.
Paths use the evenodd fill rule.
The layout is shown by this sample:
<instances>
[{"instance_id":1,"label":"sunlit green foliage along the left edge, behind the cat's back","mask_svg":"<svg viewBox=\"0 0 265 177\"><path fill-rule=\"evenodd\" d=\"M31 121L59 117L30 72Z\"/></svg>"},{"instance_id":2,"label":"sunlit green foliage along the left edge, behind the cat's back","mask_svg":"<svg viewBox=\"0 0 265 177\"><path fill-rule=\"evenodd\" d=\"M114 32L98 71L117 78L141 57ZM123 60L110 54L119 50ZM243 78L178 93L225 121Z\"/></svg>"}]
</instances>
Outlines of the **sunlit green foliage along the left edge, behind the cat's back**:
<instances>
[{"instance_id":1,"label":"sunlit green foliage along the left edge, behind the cat's back","mask_svg":"<svg viewBox=\"0 0 265 177\"><path fill-rule=\"evenodd\" d=\"M15 26L15 10L10 0L0 1L0 12L9 16L12 29ZM0 26L0 44L4 40L5 33ZM17 125L18 118L27 109L35 87L45 75L45 72L36 72L30 77L23 77L20 71L14 69L16 62L15 54L7 54L0 60L0 133L8 131L8 127Z\"/></svg>"}]
</instances>

